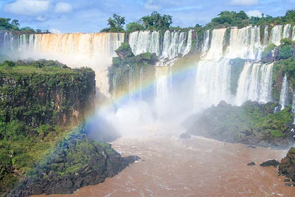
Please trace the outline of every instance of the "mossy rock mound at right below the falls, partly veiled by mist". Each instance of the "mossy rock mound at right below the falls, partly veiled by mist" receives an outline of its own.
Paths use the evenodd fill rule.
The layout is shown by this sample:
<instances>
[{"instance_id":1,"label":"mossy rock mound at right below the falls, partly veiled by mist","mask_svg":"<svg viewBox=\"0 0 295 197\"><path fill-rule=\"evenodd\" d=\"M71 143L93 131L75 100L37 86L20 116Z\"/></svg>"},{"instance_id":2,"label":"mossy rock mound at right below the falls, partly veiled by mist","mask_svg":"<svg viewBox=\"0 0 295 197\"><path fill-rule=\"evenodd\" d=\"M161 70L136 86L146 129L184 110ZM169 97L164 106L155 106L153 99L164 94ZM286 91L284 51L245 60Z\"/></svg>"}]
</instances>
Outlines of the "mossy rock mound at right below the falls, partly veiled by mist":
<instances>
[{"instance_id":1,"label":"mossy rock mound at right below the falls, partly veiled by mist","mask_svg":"<svg viewBox=\"0 0 295 197\"><path fill-rule=\"evenodd\" d=\"M274 114L277 105L246 101L242 106L232 106L220 101L194 116L187 132L220 141L286 148L295 143L294 116L288 107Z\"/></svg>"}]
</instances>

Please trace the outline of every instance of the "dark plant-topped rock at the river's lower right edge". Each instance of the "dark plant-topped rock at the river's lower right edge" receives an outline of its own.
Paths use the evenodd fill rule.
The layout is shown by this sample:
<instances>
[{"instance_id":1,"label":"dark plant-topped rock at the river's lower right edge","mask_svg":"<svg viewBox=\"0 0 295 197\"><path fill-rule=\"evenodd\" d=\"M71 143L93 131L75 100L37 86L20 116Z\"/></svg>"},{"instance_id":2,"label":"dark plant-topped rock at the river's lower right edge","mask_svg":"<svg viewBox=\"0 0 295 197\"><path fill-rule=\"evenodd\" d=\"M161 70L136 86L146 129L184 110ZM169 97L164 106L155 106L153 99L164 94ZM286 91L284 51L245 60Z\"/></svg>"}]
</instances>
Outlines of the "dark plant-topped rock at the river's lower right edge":
<instances>
[{"instance_id":1,"label":"dark plant-topped rock at the river's lower right edge","mask_svg":"<svg viewBox=\"0 0 295 197\"><path fill-rule=\"evenodd\" d=\"M292 147L279 165L279 173L295 180L295 147Z\"/></svg>"}]
</instances>

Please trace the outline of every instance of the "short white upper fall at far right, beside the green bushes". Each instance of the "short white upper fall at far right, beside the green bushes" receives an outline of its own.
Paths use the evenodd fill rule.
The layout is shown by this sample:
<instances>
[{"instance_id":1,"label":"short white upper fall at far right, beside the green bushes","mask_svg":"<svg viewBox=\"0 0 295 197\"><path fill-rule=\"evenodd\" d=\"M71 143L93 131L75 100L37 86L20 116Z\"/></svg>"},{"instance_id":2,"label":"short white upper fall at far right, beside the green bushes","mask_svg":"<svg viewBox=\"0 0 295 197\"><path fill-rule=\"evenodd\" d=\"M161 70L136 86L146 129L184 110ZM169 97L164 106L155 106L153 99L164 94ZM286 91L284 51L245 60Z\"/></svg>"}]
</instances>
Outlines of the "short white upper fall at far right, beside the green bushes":
<instances>
[{"instance_id":1,"label":"short white upper fall at far right, beside the green bushes","mask_svg":"<svg viewBox=\"0 0 295 197\"><path fill-rule=\"evenodd\" d=\"M291 31L291 25L275 25L271 30L270 43L280 45L280 41L283 38L289 38Z\"/></svg>"}]
</instances>

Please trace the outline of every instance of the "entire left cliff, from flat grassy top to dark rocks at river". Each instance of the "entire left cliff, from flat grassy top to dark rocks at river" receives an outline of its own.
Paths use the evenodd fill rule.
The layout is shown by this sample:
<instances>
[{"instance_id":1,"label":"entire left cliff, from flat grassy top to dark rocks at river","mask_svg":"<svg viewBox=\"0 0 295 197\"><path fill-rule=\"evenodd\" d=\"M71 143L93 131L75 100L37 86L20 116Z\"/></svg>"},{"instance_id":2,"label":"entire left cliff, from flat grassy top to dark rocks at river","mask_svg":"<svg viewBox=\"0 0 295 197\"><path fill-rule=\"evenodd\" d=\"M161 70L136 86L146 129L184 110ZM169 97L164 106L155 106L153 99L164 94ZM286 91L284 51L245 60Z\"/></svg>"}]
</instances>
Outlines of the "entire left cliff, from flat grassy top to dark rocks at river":
<instances>
[{"instance_id":1,"label":"entire left cliff, from flat grassy top to dark rocks at river","mask_svg":"<svg viewBox=\"0 0 295 197\"><path fill-rule=\"evenodd\" d=\"M71 194L139 159L85 134L94 78L54 61L0 64L0 197Z\"/></svg>"}]
</instances>

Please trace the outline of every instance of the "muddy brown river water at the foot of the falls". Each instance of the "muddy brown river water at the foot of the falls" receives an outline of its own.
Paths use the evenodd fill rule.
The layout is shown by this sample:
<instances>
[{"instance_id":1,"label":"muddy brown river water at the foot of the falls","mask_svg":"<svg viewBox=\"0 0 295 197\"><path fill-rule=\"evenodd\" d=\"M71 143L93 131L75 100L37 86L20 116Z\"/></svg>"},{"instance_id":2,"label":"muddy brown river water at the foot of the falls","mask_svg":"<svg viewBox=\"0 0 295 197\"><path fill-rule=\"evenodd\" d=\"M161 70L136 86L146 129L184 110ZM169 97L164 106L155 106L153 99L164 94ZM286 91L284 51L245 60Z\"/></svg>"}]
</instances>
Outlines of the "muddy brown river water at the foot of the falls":
<instances>
[{"instance_id":1,"label":"muddy brown river water at the foot of the falls","mask_svg":"<svg viewBox=\"0 0 295 197\"><path fill-rule=\"evenodd\" d=\"M295 188L284 186L276 167L259 166L269 159L280 161L287 151L196 136L183 140L180 131L147 130L112 143L123 156L137 155L142 161L74 195L51 197L295 197ZM256 166L247 166L250 162Z\"/></svg>"}]
</instances>

